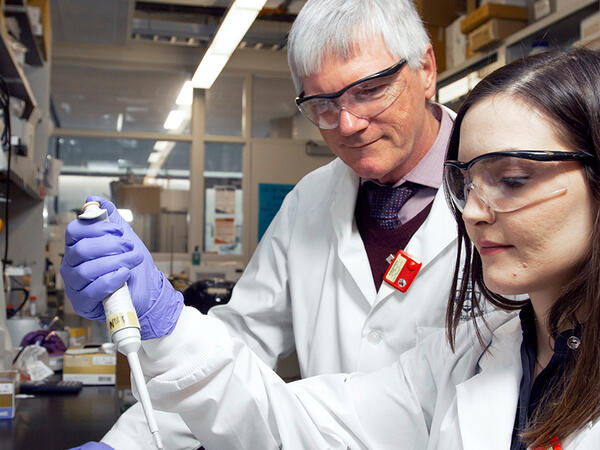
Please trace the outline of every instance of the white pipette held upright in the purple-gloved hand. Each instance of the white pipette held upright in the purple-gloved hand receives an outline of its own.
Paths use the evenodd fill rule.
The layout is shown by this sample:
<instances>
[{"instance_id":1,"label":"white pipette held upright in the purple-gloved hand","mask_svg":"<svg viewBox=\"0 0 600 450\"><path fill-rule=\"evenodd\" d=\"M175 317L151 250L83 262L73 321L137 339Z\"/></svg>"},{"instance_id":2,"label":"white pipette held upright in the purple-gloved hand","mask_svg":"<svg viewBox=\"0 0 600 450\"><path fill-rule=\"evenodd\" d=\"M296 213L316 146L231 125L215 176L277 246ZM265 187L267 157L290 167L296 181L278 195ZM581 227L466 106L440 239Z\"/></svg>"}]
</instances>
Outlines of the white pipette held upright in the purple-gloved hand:
<instances>
[{"instance_id":1,"label":"white pipette held upright in the purple-gloved hand","mask_svg":"<svg viewBox=\"0 0 600 450\"><path fill-rule=\"evenodd\" d=\"M100 208L98 202L87 202L83 205L83 213L79 215L84 220L105 220L108 222L108 213ZM117 347L117 350L127 356L131 375L135 381L148 422L148 428L152 433L154 443L158 450L163 450L162 440L158 432L158 425L154 417L154 410L148 395L148 388L144 380L144 374L138 358L138 349L141 346L140 323L133 307L131 295L127 283L124 283L112 295L102 301L104 314L106 315L106 326L110 337Z\"/></svg>"}]
</instances>

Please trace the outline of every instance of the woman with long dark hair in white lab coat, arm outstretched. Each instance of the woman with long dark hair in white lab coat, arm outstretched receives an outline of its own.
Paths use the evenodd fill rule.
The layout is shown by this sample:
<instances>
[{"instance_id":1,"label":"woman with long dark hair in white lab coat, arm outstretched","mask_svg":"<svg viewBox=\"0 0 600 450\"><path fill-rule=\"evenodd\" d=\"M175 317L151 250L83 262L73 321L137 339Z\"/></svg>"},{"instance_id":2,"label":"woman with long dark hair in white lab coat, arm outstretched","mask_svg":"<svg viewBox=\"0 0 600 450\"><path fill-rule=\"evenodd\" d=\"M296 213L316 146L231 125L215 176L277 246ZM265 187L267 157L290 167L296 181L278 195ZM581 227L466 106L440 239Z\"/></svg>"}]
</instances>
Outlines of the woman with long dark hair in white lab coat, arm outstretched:
<instances>
[{"instance_id":1,"label":"woman with long dark hair in white lab coat, arm outstretched","mask_svg":"<svg viewBox=\"0 0 600 450\"><path fill-rule=\"evenodd\" d=\"M285 384L186 308L143 343L155 408L218 449L600 448L597 86L596 53L549 52L499 69L459 111L445 178L464 244L450 345L429 334L376 373ZM459 326L467 302L473 320ZM486 302L504 311L484 315Z\"/></svg>"}]
</instances>

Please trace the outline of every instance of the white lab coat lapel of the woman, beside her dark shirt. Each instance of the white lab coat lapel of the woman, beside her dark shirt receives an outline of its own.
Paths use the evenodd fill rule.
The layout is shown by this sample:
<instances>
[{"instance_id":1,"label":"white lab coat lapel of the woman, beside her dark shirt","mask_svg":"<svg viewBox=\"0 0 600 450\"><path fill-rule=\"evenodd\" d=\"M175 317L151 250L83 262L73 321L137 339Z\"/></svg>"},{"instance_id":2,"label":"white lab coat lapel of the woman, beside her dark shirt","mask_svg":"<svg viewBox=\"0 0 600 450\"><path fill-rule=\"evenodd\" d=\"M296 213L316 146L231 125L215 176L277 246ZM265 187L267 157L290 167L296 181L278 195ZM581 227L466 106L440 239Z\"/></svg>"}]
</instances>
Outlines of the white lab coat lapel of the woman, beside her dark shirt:
<instances>
[{"instance_id":1,"label":"white lab coat lapel of the woman, beside her dark shirt","mask_svg":"<svg viewBox=\"0 0 600 450\"><path fill-rule=\"evenodd\" d=\"M510 448L522 368L521 323L498 328L480 372L456 388L458 421L465 450Z\"/></svg>"}]
</instances>

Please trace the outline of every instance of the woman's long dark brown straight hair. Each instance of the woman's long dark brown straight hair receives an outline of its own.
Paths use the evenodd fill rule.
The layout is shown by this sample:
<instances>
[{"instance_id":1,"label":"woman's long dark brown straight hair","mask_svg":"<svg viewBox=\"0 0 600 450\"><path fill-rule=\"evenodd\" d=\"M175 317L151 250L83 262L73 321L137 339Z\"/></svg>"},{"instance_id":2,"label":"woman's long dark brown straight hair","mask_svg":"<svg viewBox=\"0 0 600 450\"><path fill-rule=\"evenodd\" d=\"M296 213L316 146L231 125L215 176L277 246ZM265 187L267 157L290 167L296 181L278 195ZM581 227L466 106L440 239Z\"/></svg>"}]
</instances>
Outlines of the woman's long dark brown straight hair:
<instances>
[{"instance_id":1,"label":"woman's long dark brown straight hair","mask_svg":"<svg viewBox=\"0 0 600 450\"><path fill-rule=\"evenodd\" d=\"M577 276L565 286L549 314L553 338L565 326L579 325L586 317L583 336L574 361L566 368L562 383L547 393L528 429L521 434L531 447L547 445L552 438L565 438L600 416L600 54L586 49L549 51L520 59L483 79L461 106L448 150L457 159L460 128L469 108L494 95L508 95L527 103L556 127L559 139L575 151L596 156L596 163L583 166L596 205L596 220L589 251ZM451 298L446 311L448 340L454 349L456 328L463 304L473 295L471 317L478 336L478 322L488 301L504 310L518 310L528 301L517 301L491 292L483 280L479 254L473 250L462 215L451 202L458 224L459 251ZM568 214L568 211L559 213ZM464 253L464 259L463 259ZM471 297L469 295L469 297Z\"/></svg>"}]
</instances>

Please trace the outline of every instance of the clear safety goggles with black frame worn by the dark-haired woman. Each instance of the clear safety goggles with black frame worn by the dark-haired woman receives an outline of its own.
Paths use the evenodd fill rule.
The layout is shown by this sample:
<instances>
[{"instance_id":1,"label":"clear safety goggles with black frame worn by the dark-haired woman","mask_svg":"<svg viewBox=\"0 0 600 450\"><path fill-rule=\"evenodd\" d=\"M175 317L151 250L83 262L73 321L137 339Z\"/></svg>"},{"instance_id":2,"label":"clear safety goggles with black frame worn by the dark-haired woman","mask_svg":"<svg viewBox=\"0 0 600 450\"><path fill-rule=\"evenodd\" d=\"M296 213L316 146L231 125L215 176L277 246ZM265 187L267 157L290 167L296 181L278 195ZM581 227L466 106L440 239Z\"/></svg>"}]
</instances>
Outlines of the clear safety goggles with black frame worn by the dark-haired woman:
<instances>
[{"instance_id":1,"label":"clear safety goggles with black frame worn by the dark-haired woman","mask_svg":"<svg viewBox=\"0 0 600 450\"><path fill-rule=\"evenodd\" d=\"M444 185L459 211L473 191L488 208L512 212L567 191L564 161L590 162L584 152L516 150L446 161Z\"/></svg>"}]
</instances>

